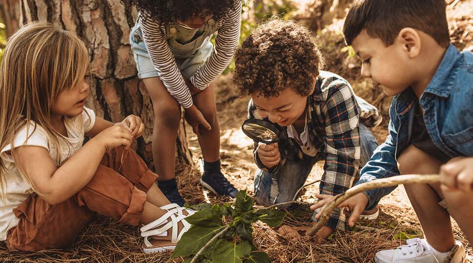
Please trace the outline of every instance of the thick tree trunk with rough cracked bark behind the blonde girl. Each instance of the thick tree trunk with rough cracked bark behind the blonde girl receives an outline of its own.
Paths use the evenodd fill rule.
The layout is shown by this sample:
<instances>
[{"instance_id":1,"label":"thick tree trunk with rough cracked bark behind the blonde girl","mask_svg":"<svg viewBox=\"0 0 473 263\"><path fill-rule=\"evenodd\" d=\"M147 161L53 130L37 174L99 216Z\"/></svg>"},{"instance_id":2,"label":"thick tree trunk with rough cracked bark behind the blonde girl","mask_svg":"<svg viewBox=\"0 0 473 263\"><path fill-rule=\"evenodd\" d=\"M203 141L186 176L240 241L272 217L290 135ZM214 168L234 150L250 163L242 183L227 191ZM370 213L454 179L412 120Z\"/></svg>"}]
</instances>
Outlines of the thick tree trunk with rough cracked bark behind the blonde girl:
<instances>
[{"instance_id":1,"label":"thick tree trunk with rough cracked bark behind the blonde girl","mask_svg":"<svg viewBox=\"0 0 473 263\"><path fill-rule=\"evenodd\" d=\"M22 23L47 20L84 40L92 69L87 107L112 122L129 114L140 116L146 129L132 147L151 165L153 107L137 77L129 41L137 11L125 10L119 0L2 0L0 9L7 36ZM192 163L183 122L177 135L177 160Z\"/></svg>"}]
</instances>

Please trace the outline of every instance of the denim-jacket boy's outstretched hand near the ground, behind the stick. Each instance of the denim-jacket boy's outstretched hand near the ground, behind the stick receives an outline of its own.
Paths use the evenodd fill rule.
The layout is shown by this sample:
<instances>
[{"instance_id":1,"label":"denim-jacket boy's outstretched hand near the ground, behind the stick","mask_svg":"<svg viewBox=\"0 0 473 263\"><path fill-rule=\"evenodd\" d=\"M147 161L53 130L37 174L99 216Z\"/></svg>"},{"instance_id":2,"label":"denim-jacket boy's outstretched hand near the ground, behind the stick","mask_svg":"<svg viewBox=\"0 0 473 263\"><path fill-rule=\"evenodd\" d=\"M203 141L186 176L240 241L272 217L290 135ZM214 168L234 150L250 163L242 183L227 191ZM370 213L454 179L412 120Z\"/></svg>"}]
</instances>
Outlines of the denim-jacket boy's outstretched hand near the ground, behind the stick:
<instances>
[{"instance_id":1,"label":"denim-jacket boy's outstretched hand near the ground, behind the stick","mask_svg":"<svg viewBox=\"0 0 473 263\"><path fill-rule=\"evenodd\" d=\"M327 206L328 203L332 202L335 199L335 196L328 194L314 194L318 198L318 202L311 206L312 210L315 210L319 207L322 207L320 211L315 215L316 219L319 219L322 215L323 209ZM354 196L348 198L338 207L348 207L352 214L348 219L348 225L355 225L356 221L360 218L361 213L365 210L366 205L368 204L368 196L364 193L357 193Z\"/></svg>"}]
</instances>

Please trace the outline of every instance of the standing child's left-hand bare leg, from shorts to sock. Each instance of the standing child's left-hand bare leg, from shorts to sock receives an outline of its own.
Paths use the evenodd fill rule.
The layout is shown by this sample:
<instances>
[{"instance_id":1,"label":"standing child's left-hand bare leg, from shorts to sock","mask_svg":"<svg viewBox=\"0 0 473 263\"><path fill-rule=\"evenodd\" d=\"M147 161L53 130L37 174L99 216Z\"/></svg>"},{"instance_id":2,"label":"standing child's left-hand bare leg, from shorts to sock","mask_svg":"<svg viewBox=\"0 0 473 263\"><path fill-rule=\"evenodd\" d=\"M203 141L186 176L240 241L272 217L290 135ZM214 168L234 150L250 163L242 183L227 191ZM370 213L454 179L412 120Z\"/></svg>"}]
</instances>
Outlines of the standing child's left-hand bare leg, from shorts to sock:
<instances>
[{"instance_id":1,"label":"standing child's left-hand bare leg, from shorts to sock","mask_svg":"<svg viewBox=\"0 0 473 263\"><path fill-rule=\"evenodd\" d=\"M181 109L159 77L144 78L143 83L153 103L153 160L159 180L175 177L176 138Z\"/></svg>"}]
</instances>

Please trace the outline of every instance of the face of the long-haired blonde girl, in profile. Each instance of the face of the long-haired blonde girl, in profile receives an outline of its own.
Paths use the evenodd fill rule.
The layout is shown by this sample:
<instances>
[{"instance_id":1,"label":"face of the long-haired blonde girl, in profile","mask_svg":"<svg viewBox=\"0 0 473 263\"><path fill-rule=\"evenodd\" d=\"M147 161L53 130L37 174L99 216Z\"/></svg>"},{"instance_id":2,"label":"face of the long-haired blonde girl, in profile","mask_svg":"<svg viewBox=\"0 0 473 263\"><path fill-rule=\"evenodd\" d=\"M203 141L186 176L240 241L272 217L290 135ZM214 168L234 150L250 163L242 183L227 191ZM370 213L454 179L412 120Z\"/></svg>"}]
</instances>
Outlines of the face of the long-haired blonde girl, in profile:
<instances>
[{"instance_id":1,"label":"face of the long-haired blonde girl, in profile","mask_svg":"<svg viewBox=\"0 0 473 263\"><path fill-rule=\"evenodd\" d=\"M88 76L85 76L79 84L72 90L62 91L54 105L52 111L59 116L77 116L84 110L84 103L89 96Z\"/></svg>"}]
</instances>

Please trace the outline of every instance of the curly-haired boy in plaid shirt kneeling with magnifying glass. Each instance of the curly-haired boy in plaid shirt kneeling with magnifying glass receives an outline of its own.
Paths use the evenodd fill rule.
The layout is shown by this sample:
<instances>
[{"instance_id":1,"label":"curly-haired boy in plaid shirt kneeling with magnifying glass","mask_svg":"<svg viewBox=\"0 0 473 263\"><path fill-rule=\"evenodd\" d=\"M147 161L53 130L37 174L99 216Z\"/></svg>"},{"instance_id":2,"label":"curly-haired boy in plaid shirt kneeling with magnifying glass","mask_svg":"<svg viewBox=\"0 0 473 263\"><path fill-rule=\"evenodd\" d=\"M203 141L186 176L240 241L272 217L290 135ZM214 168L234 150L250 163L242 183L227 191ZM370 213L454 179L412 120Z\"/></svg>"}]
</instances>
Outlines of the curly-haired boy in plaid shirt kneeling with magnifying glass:
<instances>
[{"instance_id":1,"label":"curly-haired boy in plaid shirt kneeling with magnifying glass","mask_svg":"<svg viewBox=\"0 0 473 263\"><path fill-rule=\"evenodd\" d=\"M381 121L378 111L345 79L319 71L322 60L311 32L281 19L260 24L235 53L233 81L238 93L252 98L249 117L267 119L284 132L276 144L255 142L255 197L261 205L291 201L320 160L320 193L342 193L377 147L367 127ZM345 230L340 209L317 235L326 239L335 228ZM290 238L297 232L281 229Z\"/></svg>"}]
</instances>

